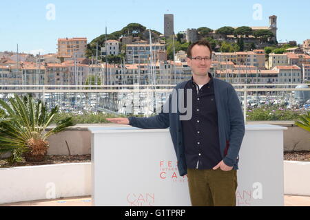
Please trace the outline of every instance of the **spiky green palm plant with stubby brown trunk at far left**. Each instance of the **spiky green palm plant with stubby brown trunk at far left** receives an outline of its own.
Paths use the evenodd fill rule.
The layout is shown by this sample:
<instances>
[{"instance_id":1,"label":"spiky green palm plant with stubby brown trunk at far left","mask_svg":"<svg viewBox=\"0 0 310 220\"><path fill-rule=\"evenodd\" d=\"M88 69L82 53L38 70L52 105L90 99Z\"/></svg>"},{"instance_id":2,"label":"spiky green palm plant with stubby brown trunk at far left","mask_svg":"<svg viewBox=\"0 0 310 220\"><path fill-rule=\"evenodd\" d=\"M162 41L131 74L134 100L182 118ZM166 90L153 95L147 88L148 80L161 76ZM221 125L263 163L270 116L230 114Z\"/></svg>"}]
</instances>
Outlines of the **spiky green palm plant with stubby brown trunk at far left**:
<instances>
[{"instance_id":1,"label":"spiky green palm plant with stubby brown trunk at far left","mask_svg":"<svg viewBox=\"0 0 310 220\"><path fill-rule=\"evenodd\" d=\"M10 151L10 163L17 162L22 156L28 162L42 161L48 152L46 139L74 125L72 117L67 117L45 132L59 112L58 106L48 112L46 104L41 100L35 104L30 95L21 99L14 94L14 98L9 98L9 102L10 104L0 100L0 153Z\"/></svg>"}]
</instances>

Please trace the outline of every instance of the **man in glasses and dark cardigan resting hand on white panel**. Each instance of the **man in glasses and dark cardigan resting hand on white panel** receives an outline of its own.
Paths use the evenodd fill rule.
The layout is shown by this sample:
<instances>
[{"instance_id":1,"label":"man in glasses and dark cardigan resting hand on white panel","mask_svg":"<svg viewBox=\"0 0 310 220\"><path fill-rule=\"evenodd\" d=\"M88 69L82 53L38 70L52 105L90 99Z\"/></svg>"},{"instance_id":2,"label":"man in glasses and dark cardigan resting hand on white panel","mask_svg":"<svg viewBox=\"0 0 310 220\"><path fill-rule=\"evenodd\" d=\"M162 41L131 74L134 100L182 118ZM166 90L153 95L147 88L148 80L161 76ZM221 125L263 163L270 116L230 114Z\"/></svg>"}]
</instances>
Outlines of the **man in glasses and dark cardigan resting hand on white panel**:
<instances>
[{"instance_id":1,"label":"man in glasses and dark cardigan resting hand on white panel","mask_svg":"<svg viewBox=\"0 0 310 220\"><path fill-rule=\"evenodd\" d=\"M192 89L189 120L180 120L183 114L170 110L149 118L108 120L143 129L169 127L179 173L188 177L192 205L236 206L238 153L245 122L234 87L209 74L211 55L208 41L192 43L187 50L192 79L176 85L175 91ZM174 98L170 95L166 102L170 108Z\"/></svg>"}]
</instances>

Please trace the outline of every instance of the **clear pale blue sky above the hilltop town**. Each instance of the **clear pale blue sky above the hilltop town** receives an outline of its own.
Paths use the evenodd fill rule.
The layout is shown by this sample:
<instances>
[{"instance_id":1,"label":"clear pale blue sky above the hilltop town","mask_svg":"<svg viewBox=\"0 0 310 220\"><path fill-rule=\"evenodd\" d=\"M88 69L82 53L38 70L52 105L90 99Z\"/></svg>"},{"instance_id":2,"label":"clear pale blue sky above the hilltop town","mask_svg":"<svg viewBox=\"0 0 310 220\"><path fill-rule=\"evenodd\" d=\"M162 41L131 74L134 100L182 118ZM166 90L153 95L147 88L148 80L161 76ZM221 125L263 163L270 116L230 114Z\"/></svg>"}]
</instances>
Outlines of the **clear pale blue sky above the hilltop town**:
<instances>
[{"instance_id":1,"label":"clear pale blue sky above the hilltop town","mask_svg":"<svg viewBox=\"0 0 310 220\"><path fill-rule=\"evenodd\" d=\"M0 8L0 52L56 53L59 38L92 39L129 23L163 33L164 14L174 14L174 32L187 28L269 26L276 15L278 42L310 39L309 0L10 0Z\"/></svg>"}]
</instances>

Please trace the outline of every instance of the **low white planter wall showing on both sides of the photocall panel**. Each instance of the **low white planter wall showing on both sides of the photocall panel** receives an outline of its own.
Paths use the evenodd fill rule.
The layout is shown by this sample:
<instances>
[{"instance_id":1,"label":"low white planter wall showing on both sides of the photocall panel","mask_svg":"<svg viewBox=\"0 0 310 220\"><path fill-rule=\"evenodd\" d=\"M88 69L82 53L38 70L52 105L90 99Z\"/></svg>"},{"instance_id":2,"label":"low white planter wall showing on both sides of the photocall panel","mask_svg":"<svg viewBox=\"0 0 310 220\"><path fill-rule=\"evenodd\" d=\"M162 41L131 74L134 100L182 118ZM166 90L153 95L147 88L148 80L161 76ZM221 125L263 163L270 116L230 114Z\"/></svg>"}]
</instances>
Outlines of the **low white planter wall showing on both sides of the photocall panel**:
<instances>
[{"instance_id":1,"label":"low white planter wall showing on both sides of the photocall panel","mask_svg":"<svg viewBox=\"0 0 310 220\"><path fill-rule=\"evenodd\" d=\"M284 162L284 194L310 196L310 162ZM0 203L91 195L91 163L0 169Z\"/></svg>"}]
</instances>

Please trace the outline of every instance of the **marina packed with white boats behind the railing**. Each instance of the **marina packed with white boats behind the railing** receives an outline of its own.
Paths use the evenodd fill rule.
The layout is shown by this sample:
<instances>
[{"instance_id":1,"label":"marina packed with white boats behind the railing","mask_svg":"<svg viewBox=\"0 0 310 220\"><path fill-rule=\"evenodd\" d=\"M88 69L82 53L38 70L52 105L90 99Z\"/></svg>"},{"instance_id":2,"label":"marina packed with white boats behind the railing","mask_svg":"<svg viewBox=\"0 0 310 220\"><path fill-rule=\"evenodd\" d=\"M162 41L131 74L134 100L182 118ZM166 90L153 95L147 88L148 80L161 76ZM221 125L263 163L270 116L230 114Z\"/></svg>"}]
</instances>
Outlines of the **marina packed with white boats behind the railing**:
<instances>
[{"instance_id":1,"label":"marina packed with white boats behind the railing","mask_svg":"<svg viewBox=\"0 0 310 220\"><path fill-rule=\"evenodd\" d=\"M234 85L243 109L273 106L309 111L309 85L273 85L273 88L267 86L270 87L270 85ZM155 89L152 85L97 86L92 89L85 88L86 86L80 86L78 89L70 86L50 88L43 85L36 89L34 86L25 89L18 87L2 89L0 98L8 101L14 93L31 94L46 103L49 109L58 105L60 111L64 113L102 112L149 116L161 111L161 106L166 102L174 85L156 85Z\"/></svg>"}]
</instances>

